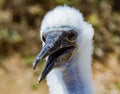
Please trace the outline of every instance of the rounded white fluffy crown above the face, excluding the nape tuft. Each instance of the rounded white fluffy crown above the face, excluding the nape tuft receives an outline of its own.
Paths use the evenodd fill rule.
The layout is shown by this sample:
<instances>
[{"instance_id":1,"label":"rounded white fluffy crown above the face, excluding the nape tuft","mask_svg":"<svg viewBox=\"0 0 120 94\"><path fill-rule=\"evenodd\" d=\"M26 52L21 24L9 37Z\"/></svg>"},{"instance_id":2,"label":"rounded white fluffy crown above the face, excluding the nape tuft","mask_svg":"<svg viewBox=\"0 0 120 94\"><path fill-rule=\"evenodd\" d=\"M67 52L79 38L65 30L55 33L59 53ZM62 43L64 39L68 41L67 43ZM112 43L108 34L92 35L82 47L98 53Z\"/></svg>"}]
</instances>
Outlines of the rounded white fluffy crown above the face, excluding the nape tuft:
<instances>
[{"instance_id":1,"label":"rounded white fluffy crown above the face, excluding the nape tuft","mask_svg":"<svg viewBox=\"0 0 120 94\"><path fill-rule=\"evenodd\" d=\"M46 28L63 25L78 28L83 22L83 16L78 10L69 6L58 6L48 12L42 21L41 32Z\"/></svg>"}]
</instances>

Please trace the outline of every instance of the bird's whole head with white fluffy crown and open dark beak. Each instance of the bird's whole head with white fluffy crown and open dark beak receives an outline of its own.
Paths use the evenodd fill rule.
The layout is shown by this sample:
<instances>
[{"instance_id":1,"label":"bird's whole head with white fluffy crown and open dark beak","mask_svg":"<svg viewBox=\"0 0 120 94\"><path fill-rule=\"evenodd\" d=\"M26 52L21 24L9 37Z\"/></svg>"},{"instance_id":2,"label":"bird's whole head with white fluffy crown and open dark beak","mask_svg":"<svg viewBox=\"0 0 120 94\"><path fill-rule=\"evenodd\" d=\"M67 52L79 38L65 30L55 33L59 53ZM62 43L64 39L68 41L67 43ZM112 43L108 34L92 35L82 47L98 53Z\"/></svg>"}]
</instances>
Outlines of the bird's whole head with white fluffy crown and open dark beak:
<instances>
[{"instance_id":1,"label":"bird's whole head with white fluffy crown and open dark beak","mask_svg":"<svg viewBox=\"0 0 120 94\"><path fill-rule=\"evenodd\" d=\"M33 68L36 68L40 60L47 59L38 82L53 68L69 63L86 41L92 39L93 29L84 22L82 14L75 8L58 6L44 17L40 35L43 48L34 60Z\"/></svg>"}]
</instances>

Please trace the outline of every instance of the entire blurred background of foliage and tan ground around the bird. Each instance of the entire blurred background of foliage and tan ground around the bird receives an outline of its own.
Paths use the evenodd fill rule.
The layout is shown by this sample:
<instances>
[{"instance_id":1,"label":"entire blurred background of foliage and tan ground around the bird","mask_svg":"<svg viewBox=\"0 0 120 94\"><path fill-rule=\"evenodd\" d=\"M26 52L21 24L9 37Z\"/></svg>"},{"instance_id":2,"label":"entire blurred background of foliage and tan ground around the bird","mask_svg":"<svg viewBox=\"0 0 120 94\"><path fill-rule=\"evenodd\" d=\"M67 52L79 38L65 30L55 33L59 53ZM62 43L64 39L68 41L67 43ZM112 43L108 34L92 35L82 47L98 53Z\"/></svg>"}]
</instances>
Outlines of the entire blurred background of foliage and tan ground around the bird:
<instances>
[{"instance_id":1,"label":"entire blurred background of foliage and tan ground around the bird","mask_svg":"<svg viewBox=\"0 0 120 94\"><path fill-rule=\"evenodd\" d=\"M120 94L120 0L0 0L0 94L49 94L32 69L41 49L43 16L57 5L79 9L95 29L93 79L96 94Z\"/></svg>"}]
</instances>

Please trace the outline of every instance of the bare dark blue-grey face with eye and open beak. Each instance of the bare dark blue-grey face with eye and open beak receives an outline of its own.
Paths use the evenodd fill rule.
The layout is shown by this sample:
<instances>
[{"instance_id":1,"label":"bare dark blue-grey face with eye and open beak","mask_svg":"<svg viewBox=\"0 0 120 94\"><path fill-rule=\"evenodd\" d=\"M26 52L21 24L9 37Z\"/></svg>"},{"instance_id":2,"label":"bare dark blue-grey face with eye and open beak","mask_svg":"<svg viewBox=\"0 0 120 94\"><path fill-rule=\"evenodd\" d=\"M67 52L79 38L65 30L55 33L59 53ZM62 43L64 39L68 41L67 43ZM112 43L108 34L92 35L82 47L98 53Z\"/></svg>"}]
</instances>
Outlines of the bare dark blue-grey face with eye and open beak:
<instances>
[{"instance_id":1,"label":"bare dark blue-grey face with eye and open beak","mask_svg":"<svg viewBox=\"0 0 120 94\"><path fill-rule=\"evenodd\" d=\"M77 32L50 31L42 37L45 45L34 60L33 68L35 69L39 61L47 56L48 59L38 82L41 82L54 67L60 66L71 58L76 49Z\"/></svg>"}]
</instances>

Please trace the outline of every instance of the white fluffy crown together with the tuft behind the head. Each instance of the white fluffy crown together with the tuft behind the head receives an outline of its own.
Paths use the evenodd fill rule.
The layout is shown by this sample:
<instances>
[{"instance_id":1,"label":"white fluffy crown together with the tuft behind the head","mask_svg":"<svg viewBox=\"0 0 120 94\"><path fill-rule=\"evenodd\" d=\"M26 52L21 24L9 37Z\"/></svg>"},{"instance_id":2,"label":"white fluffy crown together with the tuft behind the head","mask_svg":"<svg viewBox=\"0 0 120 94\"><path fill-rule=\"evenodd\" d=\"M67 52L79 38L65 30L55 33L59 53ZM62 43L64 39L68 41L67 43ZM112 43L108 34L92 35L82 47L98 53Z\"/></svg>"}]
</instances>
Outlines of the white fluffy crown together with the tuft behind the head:
<instances>
[{"instance_id":1,"label":"white fluffy crown together with the tuft behind the head","mask_svg":"<svg viewBox=\"0 0 120 94\"><path fill-rule=\"evenodd\" d=\"M48 29L57 27L58 30L60 26L76 28L81 39L90 40L94 35L92 26L84 21L80 11L67 5L58 6L45 15L41 24L41 35L48 32Z\"/></svg>"}]
</instances>

